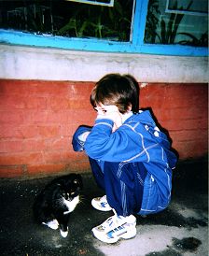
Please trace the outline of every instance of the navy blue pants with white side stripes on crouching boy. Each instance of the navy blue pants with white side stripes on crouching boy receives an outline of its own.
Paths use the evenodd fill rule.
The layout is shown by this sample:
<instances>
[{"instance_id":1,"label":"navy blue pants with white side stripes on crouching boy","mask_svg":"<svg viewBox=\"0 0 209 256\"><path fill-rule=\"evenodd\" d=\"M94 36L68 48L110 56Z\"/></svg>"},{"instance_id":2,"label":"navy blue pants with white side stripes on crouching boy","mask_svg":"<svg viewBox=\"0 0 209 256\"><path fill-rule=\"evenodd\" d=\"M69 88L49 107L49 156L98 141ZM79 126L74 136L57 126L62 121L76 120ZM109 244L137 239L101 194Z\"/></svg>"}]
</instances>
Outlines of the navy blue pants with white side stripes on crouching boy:
<instances>
[{"instance_id":1,"label":"navy blue pants with white side stripes on crouching boy","mask_svg":"<svg viewBox=\"0 0 209 256\"><path fill-rule=\"evenodd\" d=\"M118 215L139 212L146 168L142 163L101 162L90 158L93 176L106 194L108 204Z\"/></svg>"}]
</instances>

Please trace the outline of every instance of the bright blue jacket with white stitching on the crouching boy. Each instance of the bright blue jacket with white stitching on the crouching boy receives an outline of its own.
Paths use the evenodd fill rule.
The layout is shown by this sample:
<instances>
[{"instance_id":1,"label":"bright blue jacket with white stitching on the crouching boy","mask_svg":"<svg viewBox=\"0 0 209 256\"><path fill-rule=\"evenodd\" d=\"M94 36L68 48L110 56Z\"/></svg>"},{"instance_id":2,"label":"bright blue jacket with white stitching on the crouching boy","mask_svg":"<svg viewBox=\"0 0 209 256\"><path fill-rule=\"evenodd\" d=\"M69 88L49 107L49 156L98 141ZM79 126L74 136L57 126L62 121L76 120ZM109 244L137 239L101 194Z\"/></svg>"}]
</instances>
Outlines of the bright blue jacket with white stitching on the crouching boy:
<instances>
[{"instance_id":1,"label":"bright blue jacket with white stitching on the crouching boy","mask_svg":"<svg viewBox=\"0 0 209 256\"><path fill-rule=\"evenodd\" d=\"M116 132L113 121L98 119L84 144L86 153L106 162L142 162L147 170L139 214L156 213L171 200L176 156L168 137L160 132L148 110L132 115Z\"/></svg>"}]
</instances>

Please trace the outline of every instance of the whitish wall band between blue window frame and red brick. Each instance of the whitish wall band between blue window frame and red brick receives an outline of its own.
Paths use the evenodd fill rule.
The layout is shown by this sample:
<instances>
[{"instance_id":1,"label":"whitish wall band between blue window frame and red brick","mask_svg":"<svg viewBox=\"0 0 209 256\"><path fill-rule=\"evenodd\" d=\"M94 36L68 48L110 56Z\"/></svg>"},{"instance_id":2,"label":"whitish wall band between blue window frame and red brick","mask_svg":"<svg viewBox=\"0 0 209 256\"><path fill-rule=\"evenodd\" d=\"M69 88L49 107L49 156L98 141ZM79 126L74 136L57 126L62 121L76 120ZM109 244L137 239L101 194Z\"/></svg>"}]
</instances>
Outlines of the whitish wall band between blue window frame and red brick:
<instances>
[{"instance_id":1,"label":"whitish wall band between blue window frame and red brick","mask_svg":"<svg viewBox=\"0 0 209 256\"><path fill-rule=\"evenodd\" d=\"M97 81L129 73L140 82L207 83L207 57L0 45L0 78Z\"/></svg>"}]
</instances>

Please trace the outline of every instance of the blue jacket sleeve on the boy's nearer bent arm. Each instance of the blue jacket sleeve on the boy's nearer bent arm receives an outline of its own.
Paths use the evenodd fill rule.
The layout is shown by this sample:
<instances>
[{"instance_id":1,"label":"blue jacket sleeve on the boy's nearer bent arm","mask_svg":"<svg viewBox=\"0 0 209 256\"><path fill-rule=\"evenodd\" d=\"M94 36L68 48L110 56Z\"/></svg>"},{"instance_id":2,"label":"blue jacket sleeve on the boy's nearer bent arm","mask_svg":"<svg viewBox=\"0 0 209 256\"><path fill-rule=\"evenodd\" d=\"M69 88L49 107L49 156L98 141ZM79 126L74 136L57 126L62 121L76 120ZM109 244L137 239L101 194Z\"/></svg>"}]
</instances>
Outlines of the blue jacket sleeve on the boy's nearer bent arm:
<instances>
[{"instance_id":1,"label":"blue jacket sleeve on the boy's nearer bent arm","mask_svg":"<svg viewBox=\"0 0 209 256\"><path fill-rule=\"evenodd\" d=\"M84 144L88 156L95 160L121 162L140 154L141 160L146 160L140 136L130 131L127 126L121 126L112 133L114 122L108 119L97 119L90 135ZM128 128L129 130L130 128ZM140 145L141 144L141 145Z\"/></svg>"}]
</instances>

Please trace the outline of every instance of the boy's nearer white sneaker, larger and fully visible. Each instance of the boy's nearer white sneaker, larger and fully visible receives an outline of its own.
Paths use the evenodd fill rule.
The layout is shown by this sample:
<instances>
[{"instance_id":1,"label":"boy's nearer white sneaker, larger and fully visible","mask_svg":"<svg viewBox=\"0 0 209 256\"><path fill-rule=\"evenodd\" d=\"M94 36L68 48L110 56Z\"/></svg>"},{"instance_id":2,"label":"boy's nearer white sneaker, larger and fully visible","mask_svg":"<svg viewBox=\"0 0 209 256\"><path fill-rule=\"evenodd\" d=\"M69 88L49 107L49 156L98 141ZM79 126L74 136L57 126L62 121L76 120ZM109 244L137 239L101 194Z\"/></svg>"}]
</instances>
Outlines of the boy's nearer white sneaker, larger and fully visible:
<instances>
[{"instance_id":1,"label":"boy's nearer white sneaker, larger and fully visible","mask_svg":"<svg viewBox=\"0 0 209 256\"><path fill-rule=\"evenodd\" d=\"M104 243L116 243L118 239L130 239L136 235L136 219L133 215L114 215L92 229L93 235Z\"/></svg>"}]
</instances>

